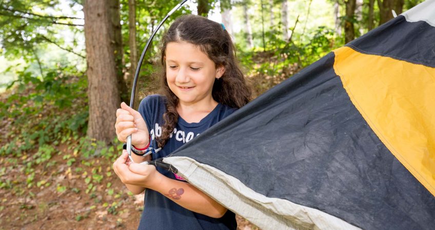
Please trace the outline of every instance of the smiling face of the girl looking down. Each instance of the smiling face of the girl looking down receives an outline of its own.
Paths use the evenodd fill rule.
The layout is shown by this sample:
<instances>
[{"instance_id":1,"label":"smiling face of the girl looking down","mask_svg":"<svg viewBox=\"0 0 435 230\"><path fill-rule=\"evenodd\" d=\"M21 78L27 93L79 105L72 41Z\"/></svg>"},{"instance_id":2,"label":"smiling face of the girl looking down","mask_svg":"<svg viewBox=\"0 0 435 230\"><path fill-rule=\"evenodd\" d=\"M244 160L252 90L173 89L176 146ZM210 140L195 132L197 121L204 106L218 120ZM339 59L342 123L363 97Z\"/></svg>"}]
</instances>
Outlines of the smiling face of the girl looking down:
<instances>
[{"instance_id":1,"label":"smiling face of the girl looking down","mask_svg":"<svg viewBox=\"0 0 435 230\"><path fill-rule=\"evenodd\" d=\"M185 41L169 42L165 53L166 79L180 103L212 102L214 79L220 78L225 68L216 68L200 47Z\"/></svg>"}]
</instances>

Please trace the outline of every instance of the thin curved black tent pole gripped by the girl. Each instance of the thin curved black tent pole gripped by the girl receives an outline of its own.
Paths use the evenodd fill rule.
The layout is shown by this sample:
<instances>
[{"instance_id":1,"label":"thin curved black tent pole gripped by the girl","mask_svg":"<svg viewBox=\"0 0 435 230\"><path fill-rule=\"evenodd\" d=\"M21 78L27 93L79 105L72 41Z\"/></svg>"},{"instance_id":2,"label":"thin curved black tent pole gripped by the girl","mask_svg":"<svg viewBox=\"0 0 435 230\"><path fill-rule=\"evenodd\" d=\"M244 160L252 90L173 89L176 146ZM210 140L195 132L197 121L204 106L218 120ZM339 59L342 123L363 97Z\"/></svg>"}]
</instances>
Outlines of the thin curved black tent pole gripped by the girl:
<instances>
[{"instance_id":1,"label":"thin curved black tent pole gripped by the girl","mask_svg":"<svg viewBox=\"0 0 435 230\"><path fill-rule=\"evenodd\" d=\"M169 16L171 16L171 14L173 12L175 12L176 10L178 10L181 6L183 6L183 4L185 4L187 2L187 0L184 0L183 2L179 3L178 5L176 5L171 11L169 11L168 14L166 14L165 18L163 18L163 20L160 22L159 26L157 26L157 28L155 28L154 32L152 33L151 37L148 39L147 44L145 45L145 49L142 52L141 58L139 59L139 63L137 64L137 68L136 68L136 73L134 75L134 80L133 80L133 88L131 90L131 97L130 97L130 108L133 108L133 104L134 104L134 95L136 93L136 83L137 83L137 77L139 77L139 72L141 71L141 65L142 62L144 61L144 57L145 57L145 53L148 50L149 45L151 44L152 39L154 38L154 35L157 33L157 31L160 29L160 27L162 27L163 23L166 21L166 19L168 19ZM131 157L131 135L129 135L127 137L127 152L128 152L128 157L130 158L130 160L132 162L133 158Z\"/></svg>"}]
</instances>

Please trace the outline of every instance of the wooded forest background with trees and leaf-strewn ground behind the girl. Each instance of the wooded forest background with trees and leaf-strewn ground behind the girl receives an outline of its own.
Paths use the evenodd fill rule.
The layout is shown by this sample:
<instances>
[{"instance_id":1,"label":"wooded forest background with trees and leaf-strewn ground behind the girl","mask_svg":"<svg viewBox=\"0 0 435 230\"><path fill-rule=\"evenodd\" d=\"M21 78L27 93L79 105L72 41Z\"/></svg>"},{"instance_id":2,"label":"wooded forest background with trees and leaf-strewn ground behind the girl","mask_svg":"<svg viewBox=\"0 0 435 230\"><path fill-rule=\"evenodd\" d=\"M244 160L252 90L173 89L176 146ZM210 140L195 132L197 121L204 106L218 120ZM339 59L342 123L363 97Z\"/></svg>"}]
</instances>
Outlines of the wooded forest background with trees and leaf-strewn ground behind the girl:
<instances>
[{"instance_id":1,"label":"wooded forest background with trees and leaf-strewn ground behind the girl","mask_svg":"<svg viewBox=\"0 0 435 230\"><path fill-rule=\"evenodd\" d=\"M190 0L157 32L135 106L158 91L159 40L182 14L223 22L254 96L420 0ZM179 1L0 1L0 229L135 229L143 194L111 169L149 36ZM240 229L256 228L238 217Z\"/></svg>"}]
</instances>

